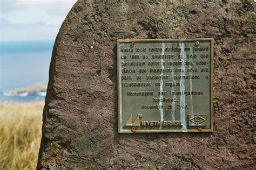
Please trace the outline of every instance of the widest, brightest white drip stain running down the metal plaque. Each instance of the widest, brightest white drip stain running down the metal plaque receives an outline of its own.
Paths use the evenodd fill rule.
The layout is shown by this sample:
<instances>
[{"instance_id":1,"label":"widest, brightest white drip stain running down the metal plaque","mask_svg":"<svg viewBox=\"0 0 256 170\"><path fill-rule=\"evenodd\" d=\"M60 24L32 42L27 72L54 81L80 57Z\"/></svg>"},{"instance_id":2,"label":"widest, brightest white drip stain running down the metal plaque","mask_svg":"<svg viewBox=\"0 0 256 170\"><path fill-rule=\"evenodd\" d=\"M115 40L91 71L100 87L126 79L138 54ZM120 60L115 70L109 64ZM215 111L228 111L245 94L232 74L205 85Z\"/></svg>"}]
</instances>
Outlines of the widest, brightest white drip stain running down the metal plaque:
<instances>
[{"instance_id":1,"label":"widest, brightest white drip stain running down the metal plaque","mask_svg":"<svg viewBox=\"0 0 256 170\"><path fill-rule=\"evenodd\" d=\"M180 72L181 78L180 78L180 91L185 91L185 80L182 78L183 75L186 73L186 65L184 61L186 60L186 52L184 51L184 42L179 43L179 47L181 47L180 51L180 60L181 62L181 69L184 69L184 72ZM185 97L186 95L180 95L180 104L185 104ZM183 126L181 129L186 129L187 123L186 123L186 115L185 115L185 108L181 107L180 109L180 119L183 122Z\"/></svg>"}]
</instances>

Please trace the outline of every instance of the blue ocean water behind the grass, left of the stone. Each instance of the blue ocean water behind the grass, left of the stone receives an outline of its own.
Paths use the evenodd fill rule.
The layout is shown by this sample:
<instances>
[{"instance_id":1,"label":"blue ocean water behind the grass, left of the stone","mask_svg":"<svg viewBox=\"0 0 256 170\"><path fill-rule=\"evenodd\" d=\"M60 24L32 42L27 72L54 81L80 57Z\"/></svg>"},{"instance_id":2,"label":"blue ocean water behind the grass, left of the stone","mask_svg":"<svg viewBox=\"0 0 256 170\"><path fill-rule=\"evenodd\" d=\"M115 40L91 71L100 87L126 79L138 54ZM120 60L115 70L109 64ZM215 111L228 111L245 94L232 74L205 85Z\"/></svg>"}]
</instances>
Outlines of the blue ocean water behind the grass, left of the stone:
<instances>
[{"instance_id":1,"label":"blue ocean water behind the grass, left of the stone","mask_svg":"<svg viewBox=\"0 0 256 170\"><path fill-rule=\"evenodd\" d=\"M44 101L45 93L8 95L34 83L48 83L54 40L0 42L0 102Z\"/></svg>"}]
</instances>

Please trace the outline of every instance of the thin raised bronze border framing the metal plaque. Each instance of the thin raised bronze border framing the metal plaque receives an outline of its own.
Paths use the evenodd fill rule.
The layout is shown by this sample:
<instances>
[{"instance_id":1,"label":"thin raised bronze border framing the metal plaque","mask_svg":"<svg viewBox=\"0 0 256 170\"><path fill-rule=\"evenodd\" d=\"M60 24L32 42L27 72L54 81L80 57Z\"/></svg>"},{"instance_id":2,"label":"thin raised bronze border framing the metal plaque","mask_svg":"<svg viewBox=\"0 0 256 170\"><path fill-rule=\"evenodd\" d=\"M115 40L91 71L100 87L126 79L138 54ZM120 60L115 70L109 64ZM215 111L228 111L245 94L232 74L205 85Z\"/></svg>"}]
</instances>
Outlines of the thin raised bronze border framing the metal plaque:
<instances>
[{"instance_id":1,"label":"thin raised bronze border framing the metal plaque","mask_svg":"<svg viewBox=\"0 0 256 170\"><path fill-rule=\"evenodd\" d=\"M120 102L121 102L121 98L120 98L120 83L121 80L119 79L120 76L120 58L119 58L119 47L120 47L120 42L185 42L185 41L210 41L211 43L211 52L210 52L210 56L211 56L211 64L210 64L210 68L211 68L211 84L210 84L210 101L211 101L211 129L178 129L178 130L125 130L122 129L121 127L121 117L120 117ZM192 39L118 39L117 40L117 97L118 97L118 133L167 133L167 132L213 132L213 119L214 119L214 113L213 113L213 83L214 83L214 79L213 79L213 67L214 67L214 38L192 38Z\"/></svg>"}]
</instances>

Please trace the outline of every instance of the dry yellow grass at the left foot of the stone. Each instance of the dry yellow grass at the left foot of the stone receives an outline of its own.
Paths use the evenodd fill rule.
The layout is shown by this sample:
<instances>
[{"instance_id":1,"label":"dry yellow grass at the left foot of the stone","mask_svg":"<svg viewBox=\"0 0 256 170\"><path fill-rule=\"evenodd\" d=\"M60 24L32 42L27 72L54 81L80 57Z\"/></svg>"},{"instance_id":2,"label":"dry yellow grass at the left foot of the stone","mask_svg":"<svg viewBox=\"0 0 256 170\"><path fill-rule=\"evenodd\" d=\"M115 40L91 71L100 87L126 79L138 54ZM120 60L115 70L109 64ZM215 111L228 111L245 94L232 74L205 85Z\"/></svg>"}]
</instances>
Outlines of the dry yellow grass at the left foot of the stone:
<instances>
[{"instance_id":1,"label":"dry yellow grass at the left foot of the stone","mask_svg":"<svg viewBox=\"0 0 256 170\"><path fill-rule=\"evenodd\" d=\"M0 103L0 169L35 169L44 102Z\"/></svg>"}]
</instances>

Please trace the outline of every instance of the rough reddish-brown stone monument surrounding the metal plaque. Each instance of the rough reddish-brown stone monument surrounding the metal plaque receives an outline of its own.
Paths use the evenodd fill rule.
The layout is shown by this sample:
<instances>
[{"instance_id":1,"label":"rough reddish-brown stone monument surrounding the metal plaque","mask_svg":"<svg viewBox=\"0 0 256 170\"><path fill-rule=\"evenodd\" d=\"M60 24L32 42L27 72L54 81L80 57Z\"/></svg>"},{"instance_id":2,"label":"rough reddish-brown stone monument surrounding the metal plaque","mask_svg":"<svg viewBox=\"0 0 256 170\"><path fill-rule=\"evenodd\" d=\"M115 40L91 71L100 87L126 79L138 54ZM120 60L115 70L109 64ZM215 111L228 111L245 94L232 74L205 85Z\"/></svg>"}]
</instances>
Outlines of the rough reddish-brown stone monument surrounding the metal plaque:
<instances>
[{"instance_id":1,"label":"rough reddish-brown stone monument surrounding the metal plaque","mask_svg":"<svg viewBox=\"0 0 256 170\"><path fill-rule=\"evenodd\" d=\"M255 31L253 1L78 1L53 47L37 168L255 169ZM180 38L214 39L213 132L118 133L117 40Z\"/></svg>"}]
</instances>

